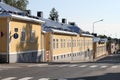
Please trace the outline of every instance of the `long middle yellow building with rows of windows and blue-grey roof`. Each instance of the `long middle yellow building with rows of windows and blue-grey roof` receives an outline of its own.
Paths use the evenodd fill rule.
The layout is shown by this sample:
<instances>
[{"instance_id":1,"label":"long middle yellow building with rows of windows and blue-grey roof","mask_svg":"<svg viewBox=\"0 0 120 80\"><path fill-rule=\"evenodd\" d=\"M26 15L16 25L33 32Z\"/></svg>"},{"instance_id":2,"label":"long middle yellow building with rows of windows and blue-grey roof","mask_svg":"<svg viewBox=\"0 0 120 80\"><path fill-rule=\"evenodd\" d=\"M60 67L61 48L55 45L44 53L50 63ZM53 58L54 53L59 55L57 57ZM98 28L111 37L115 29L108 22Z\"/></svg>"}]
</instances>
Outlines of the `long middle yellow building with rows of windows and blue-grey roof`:
<instances>
[{"instance_id":1,"label":"long middle yellow building with rows of windows and blue-grey roof","mask_svg":"<svg viewBox=\"0 0 120 80\"><path fill-rule=\"evenodd\" d=\"M76 32L76 25L46 20L45 60L49 62L92 61L93 36ZM77 30L75 29L77 28ZM74 30L75 29L75 30ZM71 31L70 31L71 30Z\"/></svg>"}]
</instances>

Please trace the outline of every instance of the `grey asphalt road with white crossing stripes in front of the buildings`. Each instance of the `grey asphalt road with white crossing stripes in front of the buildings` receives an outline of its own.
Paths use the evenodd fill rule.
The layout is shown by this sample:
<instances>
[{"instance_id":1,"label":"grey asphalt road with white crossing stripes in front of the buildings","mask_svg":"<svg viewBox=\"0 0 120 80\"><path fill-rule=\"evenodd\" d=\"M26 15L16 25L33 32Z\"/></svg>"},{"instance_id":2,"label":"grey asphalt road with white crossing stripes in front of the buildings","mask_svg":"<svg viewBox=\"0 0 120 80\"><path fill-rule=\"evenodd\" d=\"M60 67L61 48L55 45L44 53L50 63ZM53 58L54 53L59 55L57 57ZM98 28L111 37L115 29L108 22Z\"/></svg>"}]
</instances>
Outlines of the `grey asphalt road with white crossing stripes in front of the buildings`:
<instances>
[{"instance_id":1,"label":"grey asphalt road with white crossing stripes in front of the buildings","mask_svg":"<svg viewBox=\"0 0 120 80\"><path fill-rule=\"evenodd\" d=\"M0 80L120 80L120 54L91 63L0 64Z\"/></svg>"}]
</instances>

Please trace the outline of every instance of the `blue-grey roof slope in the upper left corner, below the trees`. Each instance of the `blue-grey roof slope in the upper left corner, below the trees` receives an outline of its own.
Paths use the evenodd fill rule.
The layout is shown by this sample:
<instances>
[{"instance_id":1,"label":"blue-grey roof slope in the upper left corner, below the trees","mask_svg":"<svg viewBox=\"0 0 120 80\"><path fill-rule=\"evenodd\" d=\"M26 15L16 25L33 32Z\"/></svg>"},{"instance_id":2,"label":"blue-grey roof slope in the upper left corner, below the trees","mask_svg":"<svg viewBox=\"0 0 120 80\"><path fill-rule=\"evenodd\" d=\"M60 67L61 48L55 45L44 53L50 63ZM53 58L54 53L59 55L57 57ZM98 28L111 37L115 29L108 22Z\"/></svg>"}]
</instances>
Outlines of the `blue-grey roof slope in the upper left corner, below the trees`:
<instances>
[{"instance_id":1,"label":"blue-grey roof slope in the upper left corner, below the trees","mask_svg":"<svg viewBox=\"0 0 120 80\"><path fill-rule=\"evenodd\" d=\"M2 11L11 11L11 12L17 12L17 13L24 13L22 10L17 9L15 7L12 7L6 3L0 2L0 10Z\"/></svg>"}]
</instances>

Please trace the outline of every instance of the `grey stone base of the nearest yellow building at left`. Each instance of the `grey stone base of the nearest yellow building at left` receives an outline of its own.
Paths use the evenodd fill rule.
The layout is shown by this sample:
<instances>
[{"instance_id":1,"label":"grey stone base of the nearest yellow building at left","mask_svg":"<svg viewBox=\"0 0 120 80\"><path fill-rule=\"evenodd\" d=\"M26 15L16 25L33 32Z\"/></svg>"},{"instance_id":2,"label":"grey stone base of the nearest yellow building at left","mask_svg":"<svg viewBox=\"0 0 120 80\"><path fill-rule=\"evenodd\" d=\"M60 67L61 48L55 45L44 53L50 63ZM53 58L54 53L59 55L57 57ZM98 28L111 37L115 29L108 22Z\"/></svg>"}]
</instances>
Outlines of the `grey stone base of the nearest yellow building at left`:
<instances>
[{"instance_id":1,"label":"grey stone base of the nearest yellow building at left","mask_svg":"<svg viewBox=\"0 0 120 80\"><path fill-rule=\"evenodd\" d=\"M0 62L9 63L33 63L33 62L44 62L44 51L33 51L33 52L19 52L10 53L7 55L0 55Z\"/></svg>"}]
</instances>

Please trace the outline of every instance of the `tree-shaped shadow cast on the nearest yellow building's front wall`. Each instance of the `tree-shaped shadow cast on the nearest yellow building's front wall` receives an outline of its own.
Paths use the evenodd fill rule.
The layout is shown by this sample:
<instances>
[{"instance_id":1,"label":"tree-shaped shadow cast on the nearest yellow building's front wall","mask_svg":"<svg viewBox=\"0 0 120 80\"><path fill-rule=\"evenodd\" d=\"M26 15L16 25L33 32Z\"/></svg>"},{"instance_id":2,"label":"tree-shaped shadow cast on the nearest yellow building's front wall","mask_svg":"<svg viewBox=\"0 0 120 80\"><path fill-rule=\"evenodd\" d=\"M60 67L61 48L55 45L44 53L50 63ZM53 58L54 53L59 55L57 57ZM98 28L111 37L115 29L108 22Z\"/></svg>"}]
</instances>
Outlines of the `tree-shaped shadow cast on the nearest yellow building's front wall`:
<instances>
[{"instance_id":1,"label":"tree-shaped shadow cast on the nearest yellow building's front wall","mask_svg":"<svg viewBox=\"0 0 120 80\"><path fill-rule=\"evenodd\" d=\"M33 42L31 42L32 25L27 23L23 28L24 33L21 31L20 42L17 44L17 62L38 62L40 55L38 55L38 37L36 32L32 34ZM23 36L22 36L23 35ZM25 35L25 40L21 41Z\"/></svg>"}]
</instances>

